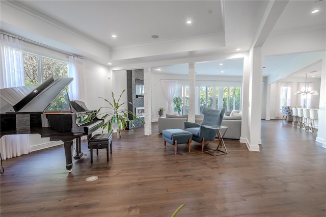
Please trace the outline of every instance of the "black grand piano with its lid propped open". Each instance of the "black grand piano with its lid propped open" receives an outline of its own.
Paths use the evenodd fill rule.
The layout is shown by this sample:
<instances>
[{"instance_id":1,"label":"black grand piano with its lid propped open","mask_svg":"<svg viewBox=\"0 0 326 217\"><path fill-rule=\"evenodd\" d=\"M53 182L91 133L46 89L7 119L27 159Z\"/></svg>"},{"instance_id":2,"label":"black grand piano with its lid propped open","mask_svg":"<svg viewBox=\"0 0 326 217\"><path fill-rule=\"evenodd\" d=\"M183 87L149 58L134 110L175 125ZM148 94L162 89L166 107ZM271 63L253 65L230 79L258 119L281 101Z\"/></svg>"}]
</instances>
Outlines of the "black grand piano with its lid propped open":
<instances>
[{"instance_id":1,"label":"black grand piano with its lid propped open","mask_svg":"<svg viewBox=\"0 0 326 217\"><path fill-rule=\"evenodd\" d=\"M103 125L82 101L70 101L67 87L73 78L50 77L41 85L1 89L1 137L6 134L39 133L51 141L64 143L66 169L72 170L72 144L76 139L75 159L79 159L80 137Z\"/></svg>"}]
</instances>

